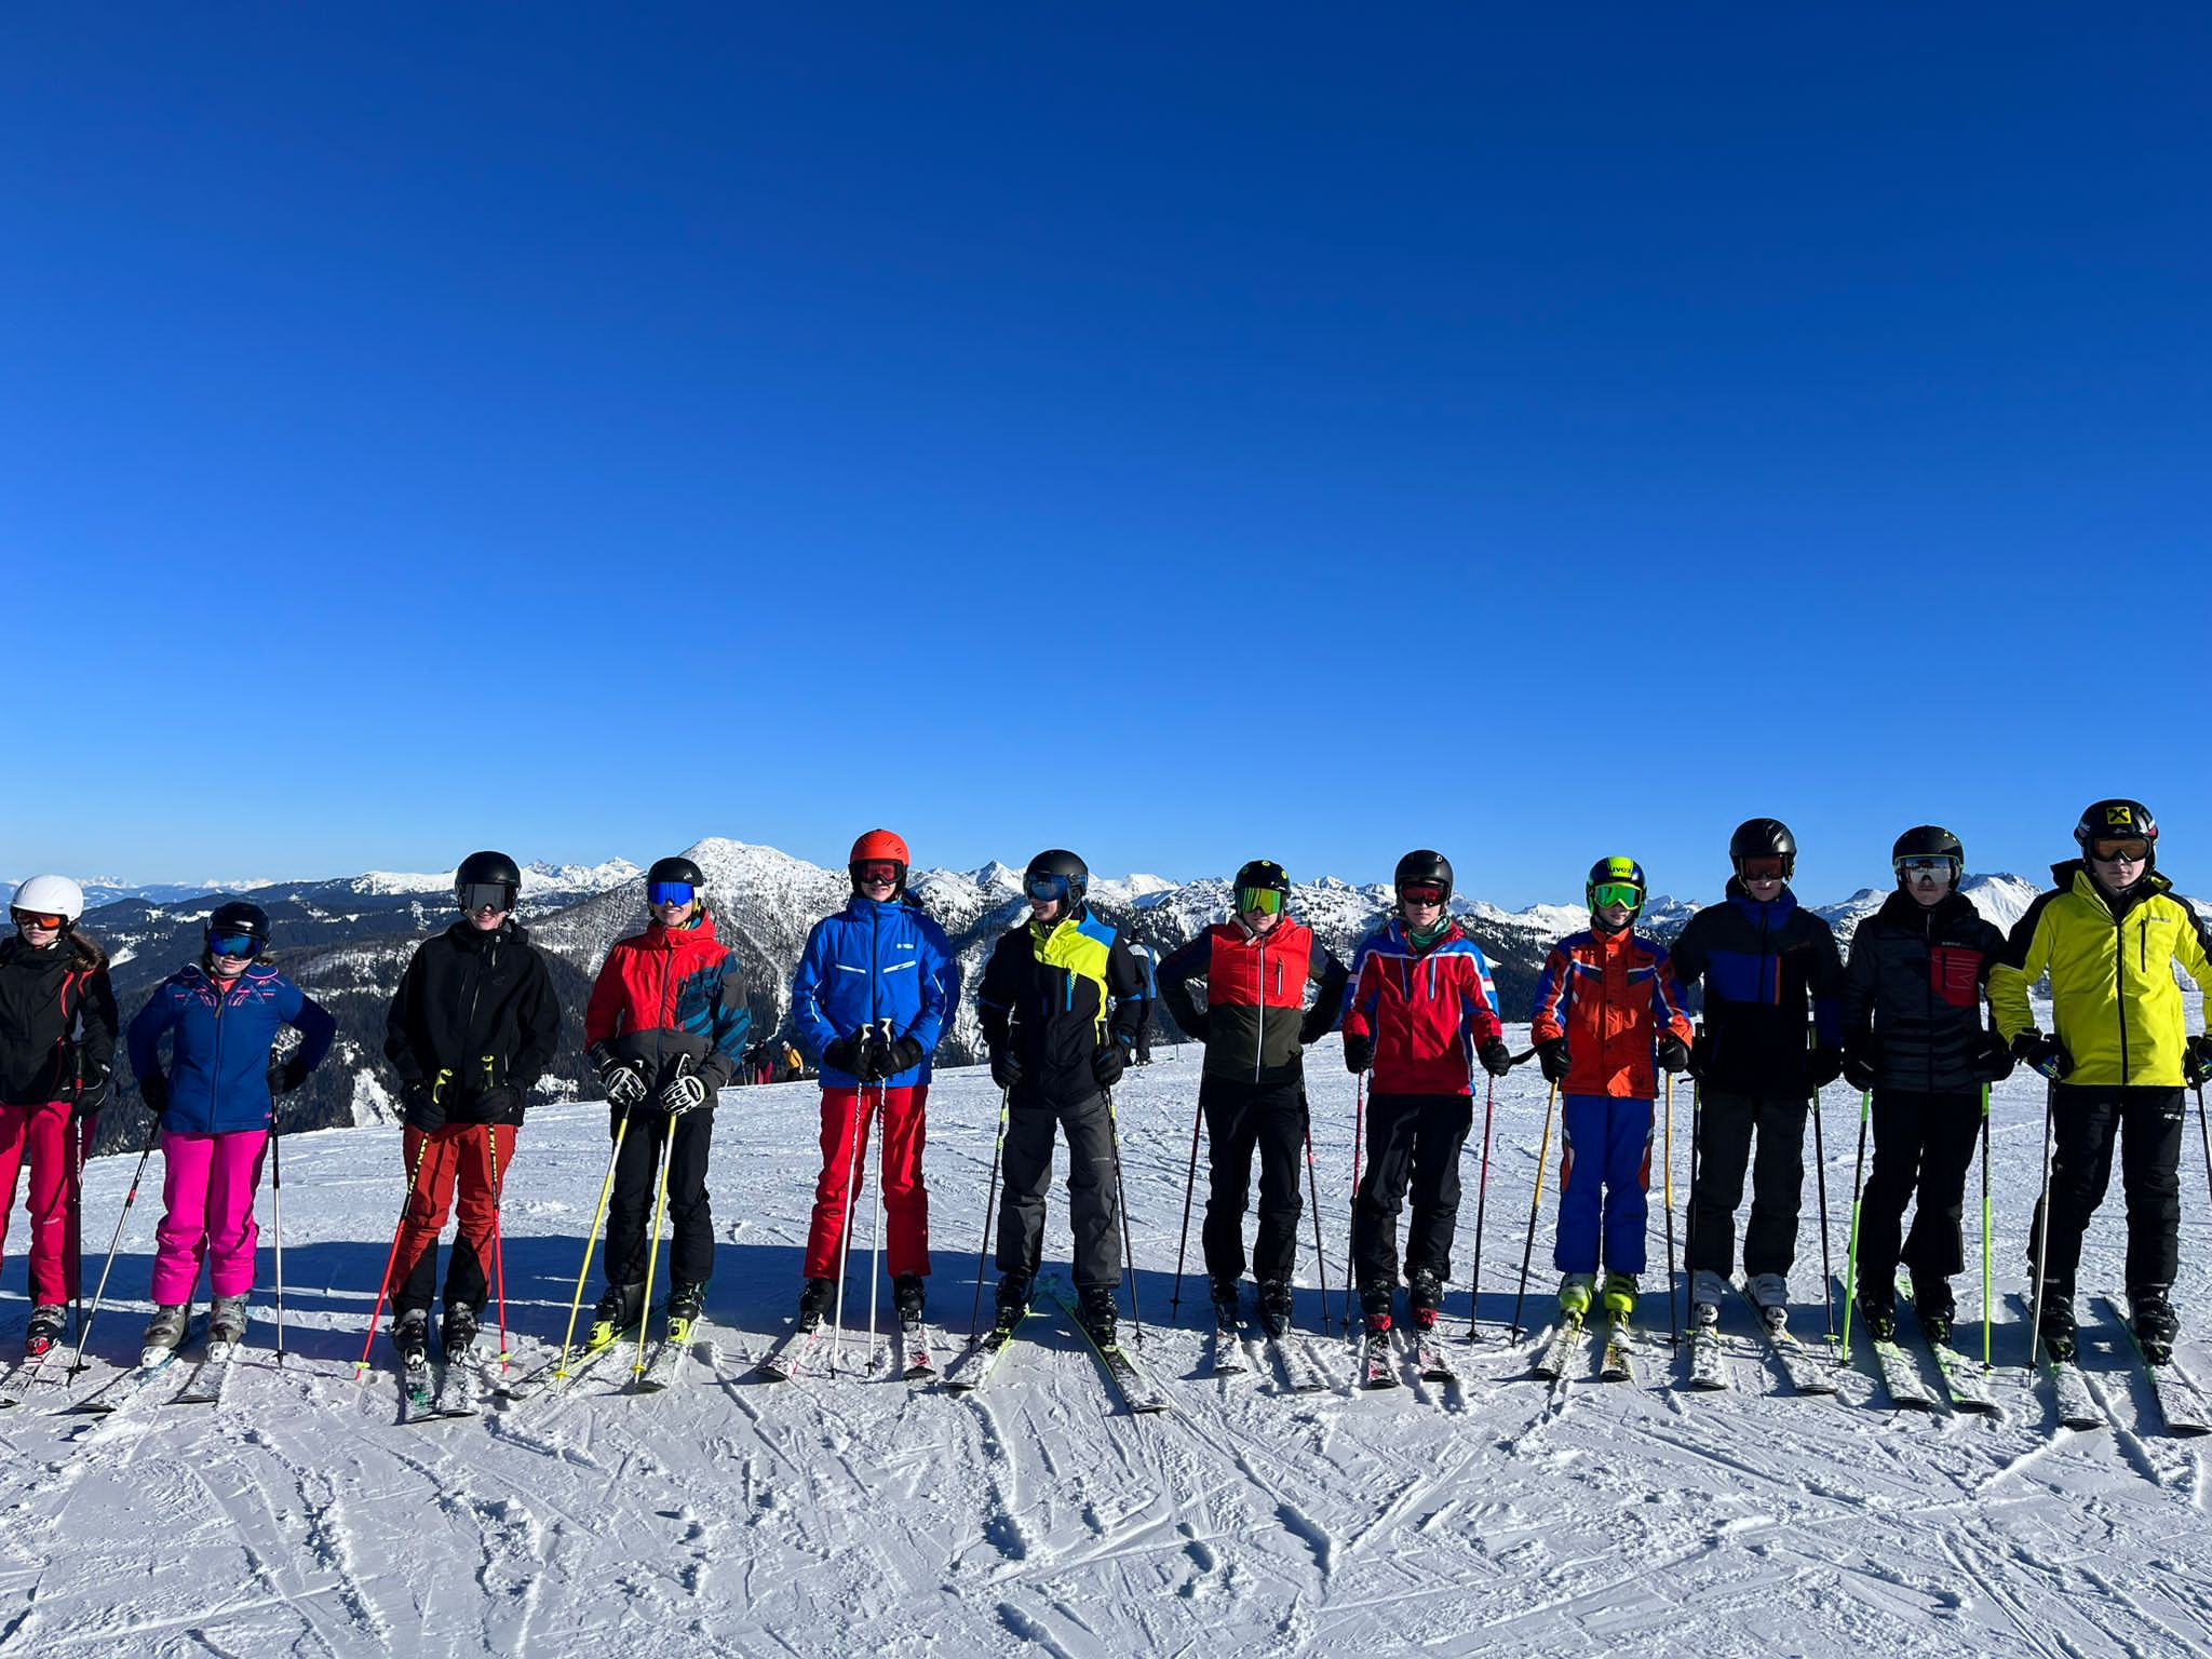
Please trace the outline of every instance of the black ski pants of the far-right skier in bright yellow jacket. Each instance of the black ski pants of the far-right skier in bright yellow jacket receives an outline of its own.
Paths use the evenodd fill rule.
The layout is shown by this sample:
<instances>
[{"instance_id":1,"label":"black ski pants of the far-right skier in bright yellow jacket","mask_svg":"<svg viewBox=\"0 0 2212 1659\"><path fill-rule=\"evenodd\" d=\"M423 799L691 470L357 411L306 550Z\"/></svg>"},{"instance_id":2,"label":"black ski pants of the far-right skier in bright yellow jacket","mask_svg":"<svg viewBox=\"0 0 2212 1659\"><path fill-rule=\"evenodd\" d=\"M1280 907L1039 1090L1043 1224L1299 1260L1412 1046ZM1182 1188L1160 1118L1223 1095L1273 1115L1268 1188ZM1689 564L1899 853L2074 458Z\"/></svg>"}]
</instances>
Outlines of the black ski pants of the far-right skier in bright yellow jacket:
<instances>
[{"instance_id":1,"label":"black ski pants of the far-right skier in bright yellow jacket","mask_svg":"<svg viewBox=\"0 0 2212 1659\"><path fill-rule=\"evenodd\" d=\"M2174 1287L2181 1228L2179 1088L2051 1086L2051 1265L2044 1296L2070 1301L2081 1265L2081 1234L2112 1183L2112 1141L2119 1141L2119 1183L2128 1194L2128 1292ZM2042 1201L2037 1201L2037 1223ZM2028 1265L2035 1234L2028 1228Z\"/></svg>"}]
</instances>

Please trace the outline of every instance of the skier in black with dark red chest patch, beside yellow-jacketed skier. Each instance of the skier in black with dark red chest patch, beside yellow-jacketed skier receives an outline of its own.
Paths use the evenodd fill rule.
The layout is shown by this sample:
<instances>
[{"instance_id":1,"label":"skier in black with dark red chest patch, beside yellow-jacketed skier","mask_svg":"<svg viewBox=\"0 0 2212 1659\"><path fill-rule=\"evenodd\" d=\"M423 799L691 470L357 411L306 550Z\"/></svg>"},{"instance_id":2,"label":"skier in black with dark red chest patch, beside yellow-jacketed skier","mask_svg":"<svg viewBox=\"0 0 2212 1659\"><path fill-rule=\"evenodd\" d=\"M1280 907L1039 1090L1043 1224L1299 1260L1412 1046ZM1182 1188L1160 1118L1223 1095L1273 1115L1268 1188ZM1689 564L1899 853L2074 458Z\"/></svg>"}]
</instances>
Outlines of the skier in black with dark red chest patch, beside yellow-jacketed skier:
<instances>
[{"instance_id":1,"label":"skier in black with dark red chest patch, beside yellow-jacketed skier","mask_svg":"<svg viewBox=\"0 0 2212 1659\"><path fill-rule=\"evenodd\" d=\"M1860 1197L1854 1263L1858 1316L1876 1340L1896 1336L1902 1263L1913 1274L1920 1329L1949 1343L1982 1091L2013 1071L2004 1037L1982 1024L2004 933L1958 889L1966 849L1949 830L1907 830L1889 867L1898 891L1851 933L1843 973L1843 1079L1874 1095L1874 1172ZM1905 1234L1916 1188L1920 1206Z\"/></svg>"}]
</instances>

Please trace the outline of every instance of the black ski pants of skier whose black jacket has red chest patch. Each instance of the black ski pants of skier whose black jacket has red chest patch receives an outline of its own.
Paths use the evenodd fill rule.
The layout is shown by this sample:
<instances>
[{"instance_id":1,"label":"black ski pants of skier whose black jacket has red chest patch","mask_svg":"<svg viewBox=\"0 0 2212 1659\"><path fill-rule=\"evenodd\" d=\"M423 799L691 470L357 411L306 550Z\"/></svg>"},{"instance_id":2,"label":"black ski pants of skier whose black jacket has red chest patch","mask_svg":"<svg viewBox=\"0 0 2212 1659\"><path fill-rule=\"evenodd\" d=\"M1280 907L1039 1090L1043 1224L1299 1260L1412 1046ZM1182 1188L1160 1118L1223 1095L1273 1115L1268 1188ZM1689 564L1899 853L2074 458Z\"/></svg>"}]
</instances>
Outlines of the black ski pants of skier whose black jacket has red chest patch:
<instances>
[{"instance_id":1,"label":"black ski pants of skier whose black jacket has red chest patch","mask_svg":"<svg viewBox=\"0 0 2212 1659\"><path fill-rule=\"evenodd\" d=\"M1966 1265L1960 1214L1966 1170L1982 1133L1982 1095L1874 1091L1874 1172L1858 1201L1858 1290L1889 1294L1898 1263L1922 1279L1949 1279ZM1920 1192L1913 1230L1905 1206Z\"/></svg>"}]
</instances>

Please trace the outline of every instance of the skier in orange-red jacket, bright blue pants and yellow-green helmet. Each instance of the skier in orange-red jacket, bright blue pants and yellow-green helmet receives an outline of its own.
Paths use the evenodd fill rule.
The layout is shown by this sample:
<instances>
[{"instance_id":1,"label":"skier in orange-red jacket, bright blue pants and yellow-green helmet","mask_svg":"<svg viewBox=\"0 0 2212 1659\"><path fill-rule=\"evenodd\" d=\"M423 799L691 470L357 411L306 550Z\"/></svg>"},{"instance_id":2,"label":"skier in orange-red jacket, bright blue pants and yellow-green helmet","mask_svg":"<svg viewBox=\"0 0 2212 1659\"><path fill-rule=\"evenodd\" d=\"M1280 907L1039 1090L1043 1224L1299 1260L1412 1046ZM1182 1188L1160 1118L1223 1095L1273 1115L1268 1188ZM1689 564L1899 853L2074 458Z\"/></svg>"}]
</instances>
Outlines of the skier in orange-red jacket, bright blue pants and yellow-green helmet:
<instances>
[{"instance_id":1,"label":"skier in orange-red jacket, bright blue pants and yellow-green helmet","mask_svg":"<svg viewBox=\"0 0 2212 1659\"><path fill-rule=\"evenodd\" d=\"M1613 1318L1637 1312L1644 1272L1646 1190L1652 1170L1652 1102L1659 1068L1690 1064L1694 1026L1668 951L1635 931L1644 914L1644 865L1599 858L1584 883L1590 929L1544 958L1528 1035L1544 1082L1559 1093L1559 1307L1590 1312L1597 1270Z\"/></svg>"}]
</instances>

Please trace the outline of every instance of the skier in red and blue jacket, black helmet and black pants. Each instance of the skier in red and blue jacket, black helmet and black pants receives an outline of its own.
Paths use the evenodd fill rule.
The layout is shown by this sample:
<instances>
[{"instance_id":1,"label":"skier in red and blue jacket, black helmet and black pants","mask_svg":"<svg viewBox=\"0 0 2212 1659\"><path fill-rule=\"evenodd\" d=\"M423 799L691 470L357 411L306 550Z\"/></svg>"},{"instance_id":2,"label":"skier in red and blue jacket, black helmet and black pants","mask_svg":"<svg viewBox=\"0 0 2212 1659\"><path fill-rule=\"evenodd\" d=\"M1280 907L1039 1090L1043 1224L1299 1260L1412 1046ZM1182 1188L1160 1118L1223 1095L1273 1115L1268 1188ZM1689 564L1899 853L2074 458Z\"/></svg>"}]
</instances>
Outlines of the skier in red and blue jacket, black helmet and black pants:
<instances>
[{"instance_id":1,"label":"skier in red and blue jacket, black helmet and black pants","mask_svg":"<svg viewBox=\"0 0 2212 1659\"><path fill-rule=\"evenodd\" d=\"M1391 1329L1409 1188L1407 1318L1418 1332L1436 1325L1460 1219L1460 1148L1475 1121L1469 1051L1491 1077L1513 1068L1491 964L1447 909L1451 860L1409 852L1391 887L1396 916L1360 940L1345 1004L1345 1068L1376 1075L1367 1170L1352 1206L1352 1270L1371 1338Z\"/></svg>"}]
</instances>

